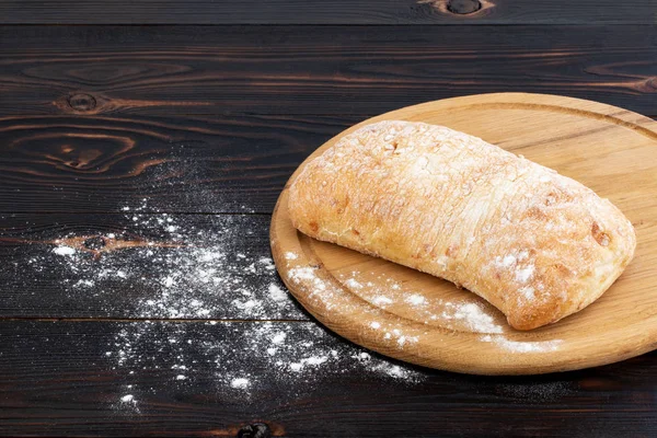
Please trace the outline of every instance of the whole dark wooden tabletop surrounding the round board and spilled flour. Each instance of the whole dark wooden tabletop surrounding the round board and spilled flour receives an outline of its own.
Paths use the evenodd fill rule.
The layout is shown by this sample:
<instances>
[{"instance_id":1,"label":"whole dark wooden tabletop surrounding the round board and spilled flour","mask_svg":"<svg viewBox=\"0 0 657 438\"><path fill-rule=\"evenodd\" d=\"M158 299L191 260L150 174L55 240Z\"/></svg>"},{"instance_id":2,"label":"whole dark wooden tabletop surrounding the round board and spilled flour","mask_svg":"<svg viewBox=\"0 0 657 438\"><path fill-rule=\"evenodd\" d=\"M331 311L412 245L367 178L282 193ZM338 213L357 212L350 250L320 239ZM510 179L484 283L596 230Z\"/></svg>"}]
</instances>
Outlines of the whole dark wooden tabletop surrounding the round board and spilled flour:
<instances>
[{"instance_id":1,"label":"whole dark wooden tabletop surrounding the round board and spilled flour","mask_svg":"<svg viewBox=\"0 0 657 438\"><path fill-rule=\"evenodd\" d=\"M51 252L56 239L107 232L166 241L131 223L128 206L249 231L229 255L267 257L293 169L351 124L405 105L528 91L655 116L656 20L655 0L0 1L0 435L657 436L657 353L523 378L400 365L422 379L391 382L346 368L310 383L265 379L249 399L210 390L220 377L209 365L174 384L157 353L128 376L105 346L140 324L153 344L219 336L228 366L247 350L241 331L265 321L299 343L345 342L318 341L291 299L257 318L222 306L230 288L207 320L136 314L125 283L71 297ZM263 293L278 281L234 275ZM128 382L150 389L138 412L115 408ZM249 426L258 422L268 426Z\"/></svg>"}]
</instances>

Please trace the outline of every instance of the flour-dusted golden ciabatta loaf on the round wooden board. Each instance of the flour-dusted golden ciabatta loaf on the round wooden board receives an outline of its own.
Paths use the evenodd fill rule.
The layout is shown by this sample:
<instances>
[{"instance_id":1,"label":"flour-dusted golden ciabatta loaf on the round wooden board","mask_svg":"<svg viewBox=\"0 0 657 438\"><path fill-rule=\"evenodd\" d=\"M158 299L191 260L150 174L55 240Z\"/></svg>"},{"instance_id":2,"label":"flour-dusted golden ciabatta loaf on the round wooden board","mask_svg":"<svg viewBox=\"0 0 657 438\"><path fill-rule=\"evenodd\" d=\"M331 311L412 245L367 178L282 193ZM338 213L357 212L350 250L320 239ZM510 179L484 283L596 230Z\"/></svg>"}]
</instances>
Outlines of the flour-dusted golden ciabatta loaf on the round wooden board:
<instances>
[{"instance_id":1,"label":"flour-dusted golden ciabatta loaf on the round wooden board","mask_svg":"<svg viewBox=\"0 0 657 438\"><path fill-rule=\"evenodd\" d=\"M380 122L289 186L301 232L445 278L518 330L598 299L634 255L631 222L555 171L442 126Z\"/></svg>"}]
</instances>

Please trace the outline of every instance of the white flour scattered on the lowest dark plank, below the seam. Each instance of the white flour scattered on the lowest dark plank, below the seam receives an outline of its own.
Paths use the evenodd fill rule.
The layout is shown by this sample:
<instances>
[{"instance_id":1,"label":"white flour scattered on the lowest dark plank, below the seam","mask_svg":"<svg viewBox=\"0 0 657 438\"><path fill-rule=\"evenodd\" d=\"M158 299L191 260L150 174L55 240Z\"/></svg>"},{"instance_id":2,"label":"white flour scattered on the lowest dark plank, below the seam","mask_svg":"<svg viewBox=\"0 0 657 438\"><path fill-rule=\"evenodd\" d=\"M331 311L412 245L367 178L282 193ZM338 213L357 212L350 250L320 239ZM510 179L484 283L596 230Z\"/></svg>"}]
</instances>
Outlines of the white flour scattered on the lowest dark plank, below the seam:
<instances>
[{"instance_id":1,"label":"white flour scattered on the lowest dark plank, below the seam","mask_svg":"<svg viewBox=\"0 0 657 438\"><path fill-rule=\"evenodd\" d=\"M172 388L192 382L200 391L245 403L256 402L252 396L263 391L309 394L321 388L313 383L342 374L385 384L416 384L428 376L346 343L314 322L141 321L120 325L118 333L110 335L102 360L127 380L123 397L129 395L130 402L146 401L158 391L140 383L153 373L168 377L161 381ZM116 408L135 407L128 405Z\"/></svg>"}]
</instances>

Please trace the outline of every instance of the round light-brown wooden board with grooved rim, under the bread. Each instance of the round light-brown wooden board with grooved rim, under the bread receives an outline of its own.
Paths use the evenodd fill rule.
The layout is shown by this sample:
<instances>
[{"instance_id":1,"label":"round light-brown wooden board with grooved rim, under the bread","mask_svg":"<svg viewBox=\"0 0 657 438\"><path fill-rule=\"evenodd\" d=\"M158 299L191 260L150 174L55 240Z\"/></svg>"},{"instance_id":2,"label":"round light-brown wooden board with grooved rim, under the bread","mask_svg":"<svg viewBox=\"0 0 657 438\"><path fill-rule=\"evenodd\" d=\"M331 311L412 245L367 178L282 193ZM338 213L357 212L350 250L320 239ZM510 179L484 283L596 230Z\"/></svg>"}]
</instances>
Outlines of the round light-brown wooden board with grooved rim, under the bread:
<instances>
[{"instance_id":1,"label":"round light-brown wooden board with grooved rim, under the bread","mask_svg":"<svg viewBox=\"0 0 657 438\"><path fill-rule=\"evenodd\" d=\"M595 303L530 332L474 293L298 232L287 186L272 219L278 272L299 302L339 335L394 358L481 374L532 374L610 364L657 348L657 123L570 97L500 93L410 106L364 124L445 125L557 170L611 199L634 224L634 261ZM288 182L289 185L289 182Z\"/></svg>"}]
</instances>

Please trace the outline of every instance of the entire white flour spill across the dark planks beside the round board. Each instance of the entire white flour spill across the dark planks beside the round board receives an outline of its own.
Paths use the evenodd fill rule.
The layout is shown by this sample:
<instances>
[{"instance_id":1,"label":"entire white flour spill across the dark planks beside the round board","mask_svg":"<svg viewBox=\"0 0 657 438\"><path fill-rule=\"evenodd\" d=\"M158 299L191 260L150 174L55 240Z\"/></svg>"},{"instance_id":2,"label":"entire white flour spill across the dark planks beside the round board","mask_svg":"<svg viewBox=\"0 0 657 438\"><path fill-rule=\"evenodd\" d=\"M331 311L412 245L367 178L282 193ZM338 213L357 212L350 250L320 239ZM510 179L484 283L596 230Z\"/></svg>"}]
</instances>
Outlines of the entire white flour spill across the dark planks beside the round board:
<instances>
[{"instance_id":1,"label":"entire white flour spill across the dark planks beside the round board","mask_svg":"<svg viewBox=\"0 0 657 438\"><path fill-rule=\"evenodd\" d=\"M72 306L90 302L97 315L99 303L107 302L113 307L102 310L108 316L146 320L117 323L119 330L108 334L99 357L126 382L115 395L116 410L148 408L159 389L145 387L145 374L159 374L153 379L173 387L203 382L227 400L245 403L263 391L302 394L320 379L342 376L405 384L424 379L413 367L370 355L315 322L268 321L307 316L278 278L268 245L262 243L266 235L253 235L262 226L250 223L261 218L208 216L199 221L152 212L146 200L123 208L122 215L125 231L89 238L97 253L81 244L79 237L87 234L72 231L26 263L35 275L58 269ZM117 246L105 251L112 245ZM314 278L312 268L296 275ZM252 321L211 321L219 318Z\"/></svg>"}]
</instances>

